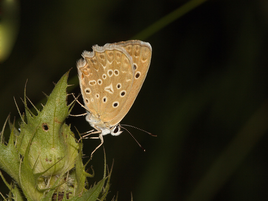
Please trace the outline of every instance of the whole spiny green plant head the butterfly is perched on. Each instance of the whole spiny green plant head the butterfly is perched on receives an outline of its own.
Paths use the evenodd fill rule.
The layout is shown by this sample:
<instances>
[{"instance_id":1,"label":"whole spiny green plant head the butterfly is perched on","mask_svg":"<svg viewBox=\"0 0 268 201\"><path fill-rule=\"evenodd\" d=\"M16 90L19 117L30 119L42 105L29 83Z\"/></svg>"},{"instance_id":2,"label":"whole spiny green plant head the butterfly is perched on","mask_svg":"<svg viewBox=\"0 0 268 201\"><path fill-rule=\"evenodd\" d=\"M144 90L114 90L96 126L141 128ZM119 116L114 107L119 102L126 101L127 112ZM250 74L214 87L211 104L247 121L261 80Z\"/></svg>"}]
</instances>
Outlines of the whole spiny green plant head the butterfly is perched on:
<instances>
[{"instance_id":1,"label":"whole spiny green plant head the butterfly is perched on","mask_svg":"<svg viewBox=\"0 0 268 201\"><path fill-rule=\"evenodd\" d=\"M103 192L110 174L85 189L86 177L93 175L85 172L80 144L65 124L73 105L66 103L68 73L55 85L43 110L35 108L37 115L28 108L24 91L26 116L20 114L20 132L7 119L11 130L7 145L1 136L0 167L15 180L27 200L103 200L109 188L108 179ZM13 199L23 200L18 188L9 185L2 174L1 177Z\"/></svg>"}]
</instances>

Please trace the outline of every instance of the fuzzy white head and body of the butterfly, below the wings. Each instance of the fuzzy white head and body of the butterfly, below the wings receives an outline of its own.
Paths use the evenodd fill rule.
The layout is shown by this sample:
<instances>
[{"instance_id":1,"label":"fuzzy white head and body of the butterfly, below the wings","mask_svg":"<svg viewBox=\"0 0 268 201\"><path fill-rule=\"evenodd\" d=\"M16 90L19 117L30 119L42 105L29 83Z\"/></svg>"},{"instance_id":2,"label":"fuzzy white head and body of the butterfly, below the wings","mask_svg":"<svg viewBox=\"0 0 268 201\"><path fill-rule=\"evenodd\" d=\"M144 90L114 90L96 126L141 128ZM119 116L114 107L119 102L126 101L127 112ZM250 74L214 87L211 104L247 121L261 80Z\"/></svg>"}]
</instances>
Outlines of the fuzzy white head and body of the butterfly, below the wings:
<instances>
[{"instance_id":1,"label":"fuzzy white head and body of the butterfly, below the wings","mask_svg":"<svg viewBox=\"0 0 268 201\"><path fill-rule=\"evenodd\" d=\"M97 127L102 131L102 135L107 135L111 133L111 135L119 135L123 131L120 131L120 127L118 125L111 126L109 122L103 122L99 117L95 117L91 113L88 113L86 116L86 120L92 127Z\"/></svg>"}]
</instances>

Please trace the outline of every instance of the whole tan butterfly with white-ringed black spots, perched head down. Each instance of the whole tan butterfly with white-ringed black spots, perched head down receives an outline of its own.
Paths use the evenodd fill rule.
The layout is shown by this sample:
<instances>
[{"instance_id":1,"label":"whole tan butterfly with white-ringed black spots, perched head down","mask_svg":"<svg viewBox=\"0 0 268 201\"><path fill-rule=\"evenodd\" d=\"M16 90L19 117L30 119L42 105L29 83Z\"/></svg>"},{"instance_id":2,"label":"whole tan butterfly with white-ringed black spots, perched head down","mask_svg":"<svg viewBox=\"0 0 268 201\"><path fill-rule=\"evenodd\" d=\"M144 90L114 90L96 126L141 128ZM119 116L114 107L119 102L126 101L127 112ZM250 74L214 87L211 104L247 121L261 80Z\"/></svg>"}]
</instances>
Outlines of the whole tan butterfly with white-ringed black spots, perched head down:
<instances>
[{"instance_id":1,"label":"whole tan butterfly with white-ringed black spots, perched head down","mask_svg":"<svg viewBox=\"0 0 268 201\"><path fill-rule=\"evenodd\" d=\"M119 135L119 122L133 105L151 62L152 47L140 40L95 45L84 51L77 61L77 70L86 120L94 127L85 136L99 133ZM77 100L77 99L76 99ZM96 151L91 153L91 156Z\"/></svg>"}]
</instances>

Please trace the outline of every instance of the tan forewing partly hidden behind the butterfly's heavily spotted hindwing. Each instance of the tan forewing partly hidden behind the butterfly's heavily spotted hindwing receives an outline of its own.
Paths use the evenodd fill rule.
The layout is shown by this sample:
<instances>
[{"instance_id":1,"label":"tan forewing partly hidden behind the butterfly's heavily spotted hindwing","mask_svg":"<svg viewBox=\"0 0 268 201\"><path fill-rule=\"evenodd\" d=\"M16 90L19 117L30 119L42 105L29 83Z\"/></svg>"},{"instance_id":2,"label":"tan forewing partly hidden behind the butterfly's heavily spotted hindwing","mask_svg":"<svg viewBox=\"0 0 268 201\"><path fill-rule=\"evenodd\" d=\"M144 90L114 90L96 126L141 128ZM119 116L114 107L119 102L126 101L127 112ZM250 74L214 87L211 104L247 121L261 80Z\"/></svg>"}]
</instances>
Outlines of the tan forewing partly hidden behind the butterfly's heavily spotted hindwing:
<instances>
[{"instance_id":1,"label":"tan forewing partly hidden behind the butterfly's heavily spotted hindwing","mask_svg":"<svg viewBox=\"0 0 268 201\"><path fill-rule=\"evenodd\" d=\"M134 63L134 80L131 87L131 94L127 97L124 106L117 116L109 122L110 125L117 125L130 110L141 89L150 66L152 47L149 43L140 40L128 40L126 42L113 43L112 45L123 47L130 54Z\"/></svg>"}]
</instances>

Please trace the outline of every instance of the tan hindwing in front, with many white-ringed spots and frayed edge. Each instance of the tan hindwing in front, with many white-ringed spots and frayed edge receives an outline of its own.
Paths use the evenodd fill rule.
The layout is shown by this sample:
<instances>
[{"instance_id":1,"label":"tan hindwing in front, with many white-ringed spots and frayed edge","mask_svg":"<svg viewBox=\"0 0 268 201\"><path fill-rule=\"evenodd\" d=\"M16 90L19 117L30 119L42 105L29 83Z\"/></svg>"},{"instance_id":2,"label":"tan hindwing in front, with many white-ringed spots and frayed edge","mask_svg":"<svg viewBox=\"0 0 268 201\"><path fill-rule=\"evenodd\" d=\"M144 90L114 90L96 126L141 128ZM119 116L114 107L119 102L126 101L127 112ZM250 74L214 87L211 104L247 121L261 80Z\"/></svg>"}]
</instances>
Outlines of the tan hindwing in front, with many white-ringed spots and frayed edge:
<instances>
[{"instance_id":1,"label":"tan hindwing in front, with many white-ringed spots and frayed edge","mask_svg":"<svg viewBox=\"0 0 268 201\"><path fill-rule=\"evenodd\" d=\"M134 80L132 57L115 44L93 46L77 62L85 107L109 126L125 105ZM113 126L113 124L110 124Z\"/></svg>"}]
</instances>

